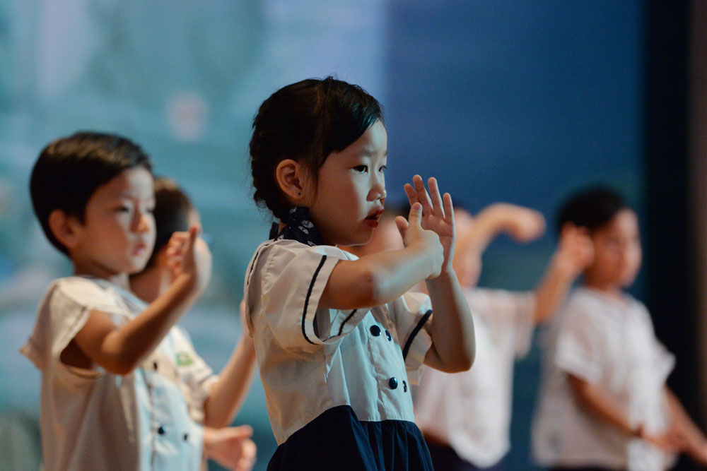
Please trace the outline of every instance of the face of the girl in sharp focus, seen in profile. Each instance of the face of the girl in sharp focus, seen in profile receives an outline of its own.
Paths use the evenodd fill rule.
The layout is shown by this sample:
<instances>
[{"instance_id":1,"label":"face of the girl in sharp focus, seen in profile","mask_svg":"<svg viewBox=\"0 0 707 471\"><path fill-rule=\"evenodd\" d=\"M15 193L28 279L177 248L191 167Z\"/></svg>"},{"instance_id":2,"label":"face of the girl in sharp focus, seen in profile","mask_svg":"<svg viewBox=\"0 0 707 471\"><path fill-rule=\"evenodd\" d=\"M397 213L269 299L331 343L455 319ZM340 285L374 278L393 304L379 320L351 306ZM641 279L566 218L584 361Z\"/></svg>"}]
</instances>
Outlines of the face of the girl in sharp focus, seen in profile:
<instances>
[{"instance_id":1,"label":"face of the girl in sharp focus, seen in profile","mask_svg":"<svg viewBox=\"0 0 707 471\"><path fill-rule=\"evenodd\" d=\"M316 188L308 189L312 222L328 244L366 244L385 204L387 133L379 121L360 138L327 156Z\"/></svg>"}]
</instances>

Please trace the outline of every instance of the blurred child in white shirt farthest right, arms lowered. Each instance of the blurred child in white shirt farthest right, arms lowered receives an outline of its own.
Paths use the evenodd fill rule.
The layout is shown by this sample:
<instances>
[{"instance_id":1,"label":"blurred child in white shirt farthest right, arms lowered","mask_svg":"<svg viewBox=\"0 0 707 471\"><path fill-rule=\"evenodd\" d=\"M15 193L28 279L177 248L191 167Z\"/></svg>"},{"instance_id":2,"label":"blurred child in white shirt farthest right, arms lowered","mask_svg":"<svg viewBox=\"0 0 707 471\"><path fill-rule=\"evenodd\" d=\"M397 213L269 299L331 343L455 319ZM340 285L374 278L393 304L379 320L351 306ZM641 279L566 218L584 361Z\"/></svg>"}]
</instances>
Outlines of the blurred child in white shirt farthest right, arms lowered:
<instances>
[{"instance_id":1,"label":"blurred child in white shirt farthest right, arms lowered","mask_svg":"<svg viewBox=\"0 0 707 471\"><path fill-rule=\"evenodd\" d=\"M674 357L624 292L641 266L638 219L616 193L578 194L558 227L582 227L594 256L549 335L533 448L554 469L665 470L675 452L707 465L707 440L665 380Z\"/></svg>"}]
</instances>

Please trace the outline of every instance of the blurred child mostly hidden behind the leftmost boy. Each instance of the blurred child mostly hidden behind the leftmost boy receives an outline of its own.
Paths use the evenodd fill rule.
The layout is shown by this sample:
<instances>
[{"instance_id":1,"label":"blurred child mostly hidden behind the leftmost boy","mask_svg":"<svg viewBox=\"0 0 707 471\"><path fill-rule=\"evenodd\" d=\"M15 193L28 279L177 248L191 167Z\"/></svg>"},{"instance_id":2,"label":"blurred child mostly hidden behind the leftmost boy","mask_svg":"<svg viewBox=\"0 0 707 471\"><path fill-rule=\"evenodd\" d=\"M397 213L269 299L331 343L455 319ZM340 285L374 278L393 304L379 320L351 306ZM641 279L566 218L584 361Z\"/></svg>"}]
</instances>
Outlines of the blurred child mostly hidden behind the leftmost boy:
<instances>
[{"instance_id":1,"label":"blurred child mostly hidden behind the leftmost boy","mask_svg":"<svg viewBox=\"0 0 707 471\"><path fill-rule=\"evenodd\" d=\"M177 277L177 267L168 253L170 238L177 232L186 231L192 225L201 227L199 212L192 205L189 196L174 181L164 177L155 179L153 215L156 237L152 255L144 270L130 276L130 289L146 303L153 302L167 291ZM195 249L209 253L209 247L201 239L197 239ZM243 326L245 328L245 322ZM194 351L187 332L179 326L175 326L173 330L173 338L179 342L180 361L177 362L177 370L193 371L194 365L198 365L202 375L211 376L211 388L228 390L228 394L223 395L225 400L221 405L219 420L224 426L230 424L243 405L255 369L255 350L250 336L243 335L240 338L230 360L216 377ZM192 419L201 422L204 419L201 412L203 398L194 395L189 388L183 388L183 392ZM249 439L251 434L252 429L247 425L221 429L204 427L204 455L230 470L250 470L255 462L255 443ZM206 469L205 460L202 469Z\"/></svg>"}]
</instances>

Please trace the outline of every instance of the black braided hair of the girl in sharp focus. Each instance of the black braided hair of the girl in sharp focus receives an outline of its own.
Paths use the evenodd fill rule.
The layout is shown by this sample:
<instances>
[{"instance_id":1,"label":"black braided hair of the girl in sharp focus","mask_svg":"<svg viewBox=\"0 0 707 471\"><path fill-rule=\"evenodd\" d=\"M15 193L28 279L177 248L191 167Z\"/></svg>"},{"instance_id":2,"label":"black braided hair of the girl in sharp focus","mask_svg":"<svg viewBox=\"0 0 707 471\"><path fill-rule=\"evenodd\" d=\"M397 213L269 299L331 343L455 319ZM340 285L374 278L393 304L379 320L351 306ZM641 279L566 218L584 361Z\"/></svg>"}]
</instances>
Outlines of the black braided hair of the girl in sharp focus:
<instances>
[{"instance_id":1,"label":"black braided hair of the girl in sharp focus","mask_svg":"<svg viewBox=\"0 0 707 471\"><path fill-rule=\"evenodd\" d=\"M253 119L250 167L257 205L284 220L290 206L275 180L279 162L303 162L316 182L327 155L344 150L378 119L383 119L378 100L358 85L332 77L277 90Z\"/></svg>"}]
</instances>

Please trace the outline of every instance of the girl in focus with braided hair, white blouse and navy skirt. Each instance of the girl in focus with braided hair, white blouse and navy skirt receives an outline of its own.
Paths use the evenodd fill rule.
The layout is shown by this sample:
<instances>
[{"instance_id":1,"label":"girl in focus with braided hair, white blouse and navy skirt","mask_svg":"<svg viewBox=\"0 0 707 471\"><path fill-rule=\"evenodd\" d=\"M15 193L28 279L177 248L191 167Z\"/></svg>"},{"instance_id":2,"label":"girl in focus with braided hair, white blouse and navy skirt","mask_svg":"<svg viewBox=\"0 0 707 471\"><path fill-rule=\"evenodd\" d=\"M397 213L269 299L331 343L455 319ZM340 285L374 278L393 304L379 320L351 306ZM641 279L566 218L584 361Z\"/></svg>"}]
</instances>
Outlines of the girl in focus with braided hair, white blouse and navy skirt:
<instances>
[{"instance_id":1,"label":"girl in focus with braided hair, white blouse and navy skirt","mask_svg":"<svg viewBox=\"0 0 707 471\"><path fill-rule=\"evenodd\" d=\"M452 201L422 179L404 249L362 258L385 203L378 102L326 78L288 85L253 124L255 201L279 218L247 268L247 321L275 438L270 470L431 470L409 382L469 369L474 328L451 261ZM426 280L430 297L407 294ZM432 316L432 312L435 312Z\"/></svg>"}]
</instances>

